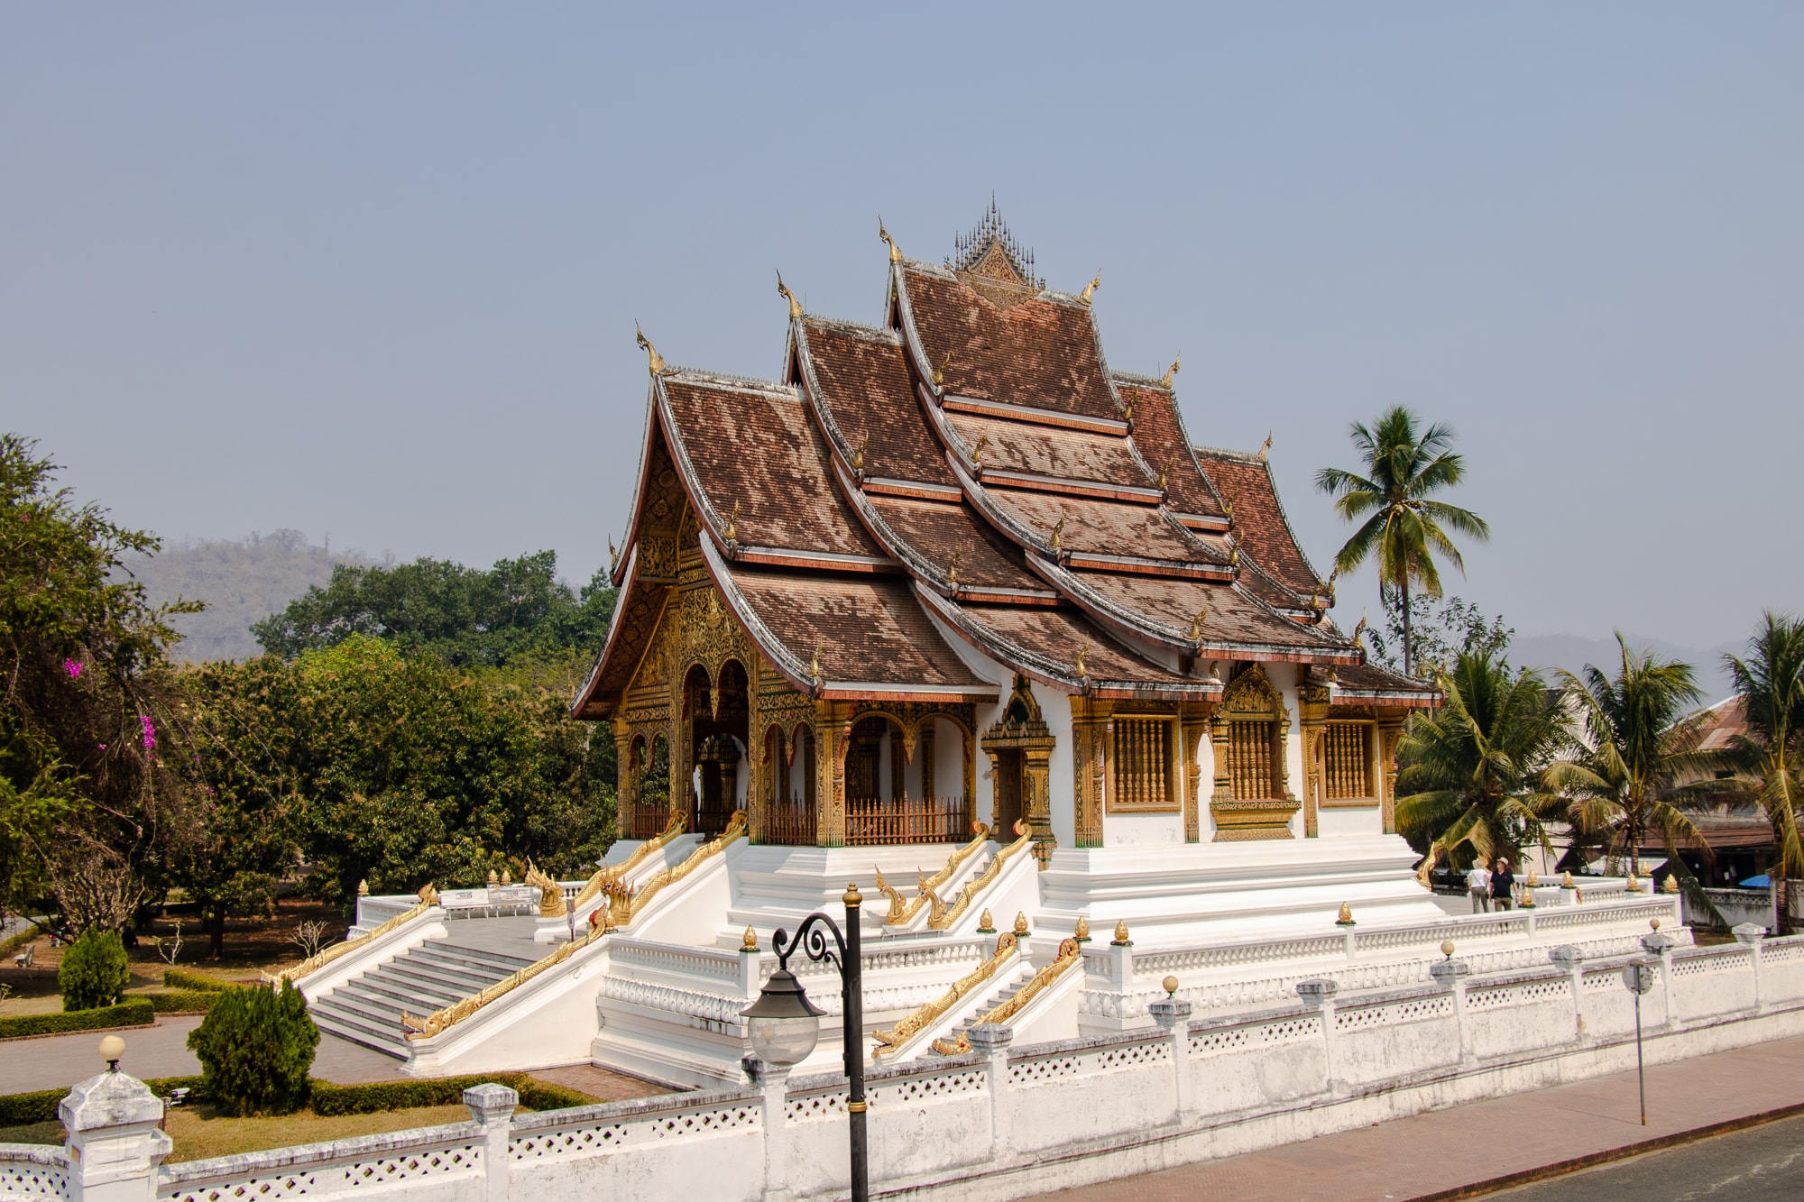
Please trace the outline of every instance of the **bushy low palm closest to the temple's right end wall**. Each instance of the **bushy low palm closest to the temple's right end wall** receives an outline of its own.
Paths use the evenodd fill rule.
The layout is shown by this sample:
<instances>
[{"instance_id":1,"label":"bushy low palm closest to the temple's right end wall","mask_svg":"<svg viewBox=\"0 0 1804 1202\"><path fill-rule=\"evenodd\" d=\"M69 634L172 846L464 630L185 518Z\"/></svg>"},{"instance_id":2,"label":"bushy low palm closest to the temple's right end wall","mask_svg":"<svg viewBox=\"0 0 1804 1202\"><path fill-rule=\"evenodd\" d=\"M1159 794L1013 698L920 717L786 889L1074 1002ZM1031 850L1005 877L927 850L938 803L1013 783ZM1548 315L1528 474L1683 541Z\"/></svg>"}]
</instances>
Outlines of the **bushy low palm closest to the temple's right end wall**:
<instances>
[{"instance_id":1,"label":"bushy low palm closest to the temple's right end wall","mask_svg":"<svg viewBox=\"0 0 1804 1202\"><path fill-rule=\"evenodd\" d=\"M1512 677L1477 650L1436 684L1447 704L1418 715L1398 747L1396 821L1411 843L1429 845L1425 866L1461 845L1486 863L1515 861L1526 841L1546 845L1560 798L1542 789L1541 771L1566 740L1546 680L1526 668Z\"/></svg>"}]
</instances>

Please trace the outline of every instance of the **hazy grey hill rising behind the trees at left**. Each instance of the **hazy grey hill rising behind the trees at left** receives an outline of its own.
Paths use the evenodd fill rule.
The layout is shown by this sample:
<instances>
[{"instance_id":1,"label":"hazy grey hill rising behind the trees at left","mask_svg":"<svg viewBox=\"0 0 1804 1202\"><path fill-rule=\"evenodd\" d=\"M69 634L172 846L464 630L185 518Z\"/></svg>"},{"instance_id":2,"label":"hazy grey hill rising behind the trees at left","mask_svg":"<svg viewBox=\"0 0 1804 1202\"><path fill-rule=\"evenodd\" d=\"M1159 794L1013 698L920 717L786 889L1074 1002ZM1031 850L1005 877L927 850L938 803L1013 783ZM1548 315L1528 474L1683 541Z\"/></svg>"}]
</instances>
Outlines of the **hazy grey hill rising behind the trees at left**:
<instances>
[{"instance_id":1,"label":"hazy grey hill rising behind the trees at left","mask_svg":"<svg viewBox=\"0 0 1804 1202\"><path fill-rule=\"evenodd\" d=\"M144 581L152 603L188 597L206 601L204 614L177 617L184 639L175 657L188 661L260 655L251 623L280 612L314 585L332 578L334 563L375 563L361 552L334 552L299 531L253 532L242 540L186 540L162 554L126 561Z\"/></svg>"}]
</instances>

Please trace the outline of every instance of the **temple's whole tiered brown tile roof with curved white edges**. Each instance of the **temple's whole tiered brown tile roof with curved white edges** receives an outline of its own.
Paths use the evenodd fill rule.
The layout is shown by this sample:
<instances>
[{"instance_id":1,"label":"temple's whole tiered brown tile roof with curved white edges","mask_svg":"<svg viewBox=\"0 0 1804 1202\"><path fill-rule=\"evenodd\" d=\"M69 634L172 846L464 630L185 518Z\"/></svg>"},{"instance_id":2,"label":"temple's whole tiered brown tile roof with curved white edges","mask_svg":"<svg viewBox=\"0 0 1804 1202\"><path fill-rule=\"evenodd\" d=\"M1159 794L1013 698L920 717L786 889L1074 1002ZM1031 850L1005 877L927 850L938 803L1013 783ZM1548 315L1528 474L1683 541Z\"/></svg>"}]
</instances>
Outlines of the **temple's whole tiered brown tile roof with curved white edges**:
<instances>
[{"instance_id":1,"label":"temple's whole tiered brown tile roof with curved white edges","mask_svg":"<svg viewBox=\"0 0 1804 1202\"><path fill-rule=\"evenodd\" d=\"M624 697L673 585L646 538L680 500L734 619L815 697L990 697L981 652L1102 697L1209 697L1230 661L1290 661L1346 700L1432 698L1328 619L1266 453L1194 448L1173 374L1109 370L1093 289L1046 289L992 211L956 265L891 244L882 328L790 298L781 383L648 345L622 597L575 711Z\"/></svg>"}]
</instances>

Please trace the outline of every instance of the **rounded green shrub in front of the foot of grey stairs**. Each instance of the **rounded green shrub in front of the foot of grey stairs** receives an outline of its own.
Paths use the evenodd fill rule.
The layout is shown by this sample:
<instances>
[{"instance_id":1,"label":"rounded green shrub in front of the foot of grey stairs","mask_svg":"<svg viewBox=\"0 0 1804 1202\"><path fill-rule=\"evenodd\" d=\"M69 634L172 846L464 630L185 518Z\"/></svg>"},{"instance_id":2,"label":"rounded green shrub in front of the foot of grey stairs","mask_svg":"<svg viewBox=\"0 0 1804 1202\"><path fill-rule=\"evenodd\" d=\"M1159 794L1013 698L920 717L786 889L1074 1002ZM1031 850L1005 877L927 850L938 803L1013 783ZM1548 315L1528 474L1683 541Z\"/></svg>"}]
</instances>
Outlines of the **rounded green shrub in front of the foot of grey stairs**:
<instances>
[{"instance_id":1,"label":"rounded green shrub in front of the foot of grey stairs","mask_svg":"<svg viewBox=\"0 0 1804 1202\"><path fill-rule=\"evenodd\" d=\"M251 985L220 993L188 1034L206 1096L222 1114L290 1114L307 1103L319 1029L299 989Z\"/></svg>"}]
</instances>

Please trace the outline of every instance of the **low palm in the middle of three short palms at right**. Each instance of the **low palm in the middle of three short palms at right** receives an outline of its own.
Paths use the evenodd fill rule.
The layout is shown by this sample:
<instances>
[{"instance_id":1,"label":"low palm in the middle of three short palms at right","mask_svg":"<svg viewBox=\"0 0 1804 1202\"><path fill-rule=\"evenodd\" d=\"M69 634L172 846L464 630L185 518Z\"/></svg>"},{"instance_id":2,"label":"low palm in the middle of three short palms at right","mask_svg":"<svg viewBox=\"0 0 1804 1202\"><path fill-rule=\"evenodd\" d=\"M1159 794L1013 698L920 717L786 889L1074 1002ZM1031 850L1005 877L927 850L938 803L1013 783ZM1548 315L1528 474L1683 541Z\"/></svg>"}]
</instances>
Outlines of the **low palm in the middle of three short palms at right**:
<instances>
[{"instance_id":1,"label":"low palm in the middle of three short palms at right","mask_svg":"<svg viewBox=\"0 0 1804 1202\"><path fill-rule=\"evenodd\" d=\"M1714 774L1721 756L1698 751L1705 715L1692 713L1703 698L1696 670L1645 650L1631 652L1620 633L1616 646L1622 666L1615 679L1591 664L1582 675L1560 671L1586 740L1577 756L1550 765L1542 781L1573 798L1568 814L1575 834L1600 837L1606 854L1627 850L1631 872L1642 875L1642 845L1654 830L1665 837L1669 859L1678 855L1678 836L1705 846L1676 801L1717 781L1687 787L1678 781Z\"/></svg>"}]
</instances>

